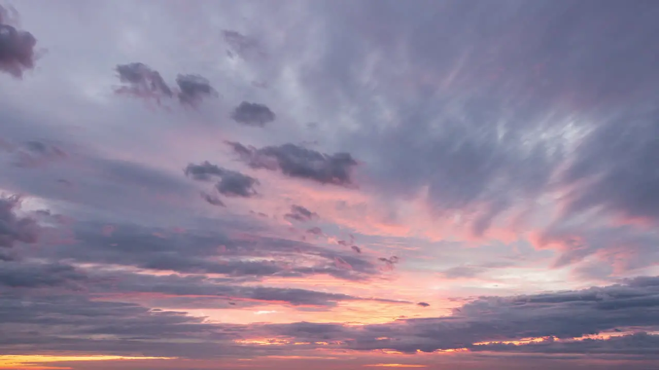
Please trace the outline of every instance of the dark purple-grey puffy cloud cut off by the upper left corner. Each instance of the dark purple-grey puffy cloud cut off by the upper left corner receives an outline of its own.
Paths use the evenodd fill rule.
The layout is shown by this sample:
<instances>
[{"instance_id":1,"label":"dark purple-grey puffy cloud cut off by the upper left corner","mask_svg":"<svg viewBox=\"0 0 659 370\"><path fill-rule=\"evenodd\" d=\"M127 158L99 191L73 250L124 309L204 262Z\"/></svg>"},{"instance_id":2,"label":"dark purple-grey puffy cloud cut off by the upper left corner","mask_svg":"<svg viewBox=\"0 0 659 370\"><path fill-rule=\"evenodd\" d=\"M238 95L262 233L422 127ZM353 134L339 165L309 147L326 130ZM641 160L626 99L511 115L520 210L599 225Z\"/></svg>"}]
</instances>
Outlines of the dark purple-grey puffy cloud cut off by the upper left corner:
<instances>
[{"instance_id":1,"label":"dark purple-grey puffy cloud cut off by the upper left corner","mask_svg":"<svg viewBox=\"0 0 659 370\"><path fill-rule=\"evenodd\" d=\"M0 71L22 78L26 70L34 68L37 40L30 32L11 25L11 18L17 15L15 9L0 5Z\"/></svg>"}]
</instances>

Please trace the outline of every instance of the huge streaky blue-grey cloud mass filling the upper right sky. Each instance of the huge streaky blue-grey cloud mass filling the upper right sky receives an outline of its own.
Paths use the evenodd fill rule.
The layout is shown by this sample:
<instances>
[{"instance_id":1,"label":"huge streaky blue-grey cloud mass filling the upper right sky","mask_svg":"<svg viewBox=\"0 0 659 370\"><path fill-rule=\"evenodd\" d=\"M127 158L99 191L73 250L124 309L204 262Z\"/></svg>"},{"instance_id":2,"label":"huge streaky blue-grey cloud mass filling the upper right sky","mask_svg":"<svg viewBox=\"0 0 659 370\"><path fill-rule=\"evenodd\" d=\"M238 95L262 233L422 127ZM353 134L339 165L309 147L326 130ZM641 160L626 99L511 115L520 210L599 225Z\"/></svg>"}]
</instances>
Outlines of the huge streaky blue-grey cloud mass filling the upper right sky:
<instances>
[{"instance_id":1,"label":"huge streaky blue-grey cloud mass filling the upper right sky","mask_svg":"<svg viewBox=\"0 0 659 370\"><path fill-rule=\"evenodd\" d=\"M649 169L659 82L652 67L659 51L646 47L659 30L651 5L387 3L377 14L374 7L351 6L298 81L306 101L324 107L324 120L347 121L327 128L331 140L364 163L363 186L383 201L423 194L434 216L460 216L477 236L515 207L573 186L574 212L603 206L648 217L659 209ZM345 17L338 5L325 10L323 20ZM441 47L428 47L438 38ZM575 55L575 44L588 47ZM282 63L301 55L287 52ZM621 87L631 95L617 93Z\"/></svg>"}]
</instances>

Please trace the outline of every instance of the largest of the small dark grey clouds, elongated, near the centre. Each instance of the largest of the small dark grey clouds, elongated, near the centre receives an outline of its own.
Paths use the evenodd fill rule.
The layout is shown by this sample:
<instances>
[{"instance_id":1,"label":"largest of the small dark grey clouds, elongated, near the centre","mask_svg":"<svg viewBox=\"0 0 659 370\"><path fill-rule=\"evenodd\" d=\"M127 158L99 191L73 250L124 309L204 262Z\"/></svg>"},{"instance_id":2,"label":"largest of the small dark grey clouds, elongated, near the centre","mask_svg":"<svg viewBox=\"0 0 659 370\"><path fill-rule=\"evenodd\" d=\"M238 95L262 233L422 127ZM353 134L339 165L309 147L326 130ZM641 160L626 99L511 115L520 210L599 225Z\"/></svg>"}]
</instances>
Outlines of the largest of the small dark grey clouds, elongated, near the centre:
<instances>
[{"instance_id":1,"label":"largest of the small dark grey clouds, elongated, near the centre","mask_svg":"<svg viewBox=\"0 0 659 370\"><path fill-rule=\"evenodd\" d=\"M306 178L321 184L353 185L352 170L357 161L349 153L320 153L295 144L260 149L227 142L241 161L253 169L279 171L286 176Z\"/></svg>"}]
</instances>

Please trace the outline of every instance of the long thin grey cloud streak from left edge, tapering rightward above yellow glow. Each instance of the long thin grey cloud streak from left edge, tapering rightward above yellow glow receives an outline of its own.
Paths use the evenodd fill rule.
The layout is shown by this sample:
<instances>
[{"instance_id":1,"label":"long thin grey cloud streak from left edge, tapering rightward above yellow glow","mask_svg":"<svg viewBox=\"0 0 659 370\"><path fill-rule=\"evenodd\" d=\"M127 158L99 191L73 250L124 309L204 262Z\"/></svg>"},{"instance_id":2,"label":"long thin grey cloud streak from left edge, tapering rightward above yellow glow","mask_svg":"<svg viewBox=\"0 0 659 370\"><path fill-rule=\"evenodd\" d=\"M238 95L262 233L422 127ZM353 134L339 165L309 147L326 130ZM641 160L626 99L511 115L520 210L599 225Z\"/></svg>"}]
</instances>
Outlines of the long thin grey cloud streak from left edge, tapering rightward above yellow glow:
<instances>
[{"instance_id":1,"label":"long thin grey cloud streak from left edge, tapering rightward above yellow glow","mask_svg":"<svg viewBox=\"0 0 659 370\"><path fill-rule=\"evenodd\" d=\"M372 301L411 304L403 300L361 298L349 294L300 288L244 286L244 277L205 275L150 275L107 267L74 267L65 263L0 261L0 292L12 294L21 288L84 291L90 298L136 300L158 307L228 307L229 300L241 306L289 304L334 307L342 301ZM21 292L27 292L21 290Z\"/></svg>"}]
</instances>

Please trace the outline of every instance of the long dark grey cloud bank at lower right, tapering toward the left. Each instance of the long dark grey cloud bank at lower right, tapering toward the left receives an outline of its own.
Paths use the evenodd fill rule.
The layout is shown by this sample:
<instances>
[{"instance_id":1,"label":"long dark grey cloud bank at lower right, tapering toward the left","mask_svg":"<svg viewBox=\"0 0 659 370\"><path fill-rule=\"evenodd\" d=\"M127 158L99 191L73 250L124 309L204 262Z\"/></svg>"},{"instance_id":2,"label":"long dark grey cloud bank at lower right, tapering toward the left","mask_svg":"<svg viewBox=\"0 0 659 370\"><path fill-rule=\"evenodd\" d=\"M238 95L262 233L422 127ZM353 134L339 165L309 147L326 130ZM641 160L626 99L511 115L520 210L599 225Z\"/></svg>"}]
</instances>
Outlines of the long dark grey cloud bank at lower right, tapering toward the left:
<instances>
[{"instance_id":1,"label":"long dark grey cloud bank at lower right, tapering toward the left","mask_svg":"<svg viewBox=\"0 0 659 370\"><path fill-rule=\"evenodd\" d=\"M366 325L359 329L335 324L304 323L301 327L275 327L275 331L281 330L283 334L312 342L337 340L353 350L432 352L454 348L471 349L478 342L537 337L569 340L615 329L651 330L659 325L657 313L659 277L644 277L603 288L528 296L482 297L455 309L449 317L404 319L394 323ZM389 339L378 339L384 337ZM653 340L650 342L656 346ZM503 346L503 350L507 348ZM538 346L536 350L542 352L541 348ZM586 353L587 348L583 347ZM497 349L498 346L480 348L492 351ZM633 353L632 348L628 350ZM560 351L554 346L548 348L548 352Z\"/></svg>"}]
</instances>

